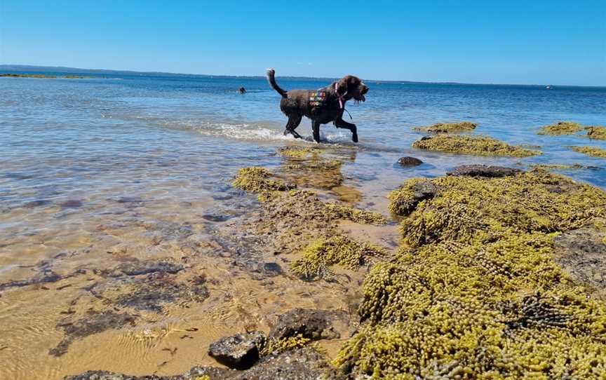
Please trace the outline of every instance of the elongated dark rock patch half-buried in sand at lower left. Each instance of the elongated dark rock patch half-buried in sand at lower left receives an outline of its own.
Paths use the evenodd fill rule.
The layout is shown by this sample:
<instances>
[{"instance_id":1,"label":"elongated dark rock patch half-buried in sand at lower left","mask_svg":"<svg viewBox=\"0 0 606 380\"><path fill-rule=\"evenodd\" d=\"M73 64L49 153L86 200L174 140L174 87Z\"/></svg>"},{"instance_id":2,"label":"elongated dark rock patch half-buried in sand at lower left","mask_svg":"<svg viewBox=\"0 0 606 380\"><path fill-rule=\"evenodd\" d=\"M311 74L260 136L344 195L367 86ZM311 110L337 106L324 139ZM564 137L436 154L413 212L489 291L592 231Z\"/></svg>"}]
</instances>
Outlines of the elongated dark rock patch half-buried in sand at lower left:
<instances>
[{"instance_id":1,"label":"elongated dark rock patch half-buried in sand at lower left","mask_svg":"<svg viewBox=\"0 0 606 380\"><path fill-rule=\"evenodd\" d=\"M76 339L98 334L105 330L123 327L126 324L133 323L134 318L127 313L115 313L114 311L90 311L88 315L79 320L63 320L57 327L65 331L65 337L55 348L51 348L48 353L53 356L61 356L67 352L67 348Z\"/></svg>"}]
</instances>

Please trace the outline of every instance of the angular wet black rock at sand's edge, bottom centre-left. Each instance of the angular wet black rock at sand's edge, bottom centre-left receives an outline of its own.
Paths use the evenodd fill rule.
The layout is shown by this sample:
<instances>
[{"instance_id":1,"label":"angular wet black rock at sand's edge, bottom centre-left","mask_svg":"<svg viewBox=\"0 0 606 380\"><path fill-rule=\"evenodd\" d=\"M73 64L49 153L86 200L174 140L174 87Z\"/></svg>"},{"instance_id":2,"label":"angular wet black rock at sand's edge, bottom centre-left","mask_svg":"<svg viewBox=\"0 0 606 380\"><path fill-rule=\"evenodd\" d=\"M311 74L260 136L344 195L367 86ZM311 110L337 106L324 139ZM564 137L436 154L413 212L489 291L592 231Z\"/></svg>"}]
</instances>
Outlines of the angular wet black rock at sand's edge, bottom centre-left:
<instances>
[{"instance_id":1,"label":"angular wet black rock at sand's edge, bottom centre-left","mask_svg":"<svg viewBox=\"0 0 606 380\"><path fill-rule=\"evenodd\" d=\"M236 334L210 344L208 355L227 367L248 369L259 360L259 350L264 344L262 332Z\"/></svg>"}]
</instances>

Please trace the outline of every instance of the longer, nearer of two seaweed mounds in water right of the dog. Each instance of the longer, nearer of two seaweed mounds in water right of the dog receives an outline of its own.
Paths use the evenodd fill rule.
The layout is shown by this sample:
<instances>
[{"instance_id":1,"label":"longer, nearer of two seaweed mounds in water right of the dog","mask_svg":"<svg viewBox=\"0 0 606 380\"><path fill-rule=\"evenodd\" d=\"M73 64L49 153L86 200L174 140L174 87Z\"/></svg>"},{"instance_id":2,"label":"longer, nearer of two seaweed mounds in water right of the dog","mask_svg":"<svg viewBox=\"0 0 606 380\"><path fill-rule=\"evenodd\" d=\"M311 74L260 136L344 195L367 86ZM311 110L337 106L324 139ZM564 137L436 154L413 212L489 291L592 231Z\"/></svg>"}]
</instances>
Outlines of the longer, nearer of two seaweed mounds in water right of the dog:
<instances>
[{"instance_id":1,"label":"longer, nearer of two seaweed mounds in water right of the dog","mask_svg":"<svg viewBox=\"0 0 606 380\"><path fill-rule=\"evenodd\" d=\"M478 156L527 157L541 154L541 151L515 147L486 136L435 135L418 140L412 144L412 147L429 151L475 154Z\"/></svg>"}]
</instances>

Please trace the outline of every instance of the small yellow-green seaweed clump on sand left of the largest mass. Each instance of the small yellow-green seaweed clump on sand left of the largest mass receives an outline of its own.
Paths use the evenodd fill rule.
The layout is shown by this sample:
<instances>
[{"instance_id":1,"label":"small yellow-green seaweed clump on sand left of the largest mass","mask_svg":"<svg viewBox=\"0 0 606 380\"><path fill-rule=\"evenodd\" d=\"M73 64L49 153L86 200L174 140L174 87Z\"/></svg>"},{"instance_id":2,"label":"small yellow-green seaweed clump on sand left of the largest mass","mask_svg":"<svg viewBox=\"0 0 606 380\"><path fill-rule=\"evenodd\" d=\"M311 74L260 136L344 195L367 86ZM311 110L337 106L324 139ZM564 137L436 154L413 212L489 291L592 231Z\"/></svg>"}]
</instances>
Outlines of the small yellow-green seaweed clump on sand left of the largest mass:
<instances>
[{"instance_id":1,"label":"small yellow-green seaweed clump on sand left of the largest mass","mask_svg":"<svg viewBox=\"0 0 606 380\"><path fill-rule=\"evenodd\" d=\"M332 265L356 270L368 257L382 256L386 256L382 247L337 235L311 243L303 251L303 257L292 262L291 269L304 280L330 278Z\"/></svg>"}]
</instances>

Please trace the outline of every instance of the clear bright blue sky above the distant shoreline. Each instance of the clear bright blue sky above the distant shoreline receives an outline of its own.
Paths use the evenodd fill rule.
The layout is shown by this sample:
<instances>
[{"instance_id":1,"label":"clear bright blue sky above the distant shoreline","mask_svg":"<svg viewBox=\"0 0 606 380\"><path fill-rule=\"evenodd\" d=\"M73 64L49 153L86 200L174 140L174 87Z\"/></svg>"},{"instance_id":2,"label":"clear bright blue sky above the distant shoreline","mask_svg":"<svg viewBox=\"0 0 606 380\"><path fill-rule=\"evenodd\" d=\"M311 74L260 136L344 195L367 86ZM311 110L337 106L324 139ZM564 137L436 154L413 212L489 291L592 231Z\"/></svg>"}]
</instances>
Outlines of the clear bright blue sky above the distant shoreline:
<instances>
[{"instance_id":1,"label":"clear bright blue sky above the distant shoreline","mask_svg":"<svg viewBox=\"0 0 606 380\"><path fill-rule=\"evenodd\" d=\"M606 86L606 1L0 0L0 63Z\"/></svg>"}]
</instances>

